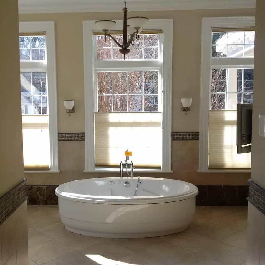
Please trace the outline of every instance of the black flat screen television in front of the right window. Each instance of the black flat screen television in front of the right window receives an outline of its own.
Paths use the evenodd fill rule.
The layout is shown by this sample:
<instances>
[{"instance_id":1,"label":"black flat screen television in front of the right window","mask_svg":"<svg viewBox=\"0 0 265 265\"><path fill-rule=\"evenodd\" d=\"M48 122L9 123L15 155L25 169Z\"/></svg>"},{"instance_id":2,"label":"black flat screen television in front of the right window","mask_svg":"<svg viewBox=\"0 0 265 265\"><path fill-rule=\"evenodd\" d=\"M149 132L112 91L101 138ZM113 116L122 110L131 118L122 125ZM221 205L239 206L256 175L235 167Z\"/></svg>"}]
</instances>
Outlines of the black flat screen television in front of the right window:
<instances>
[{"instance_id":1,"label":"black flat screen television in front of the right window","mask_svg":"<svg viewBox=\"0 0 265 265\"><path fill-rule=\"evenodd\" d=\"M237 153L251 152L253 104L237 104L236 111L236 145Z\"/></svg>"}]
</instances>

